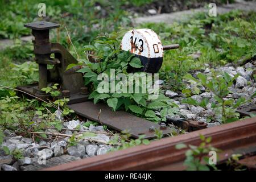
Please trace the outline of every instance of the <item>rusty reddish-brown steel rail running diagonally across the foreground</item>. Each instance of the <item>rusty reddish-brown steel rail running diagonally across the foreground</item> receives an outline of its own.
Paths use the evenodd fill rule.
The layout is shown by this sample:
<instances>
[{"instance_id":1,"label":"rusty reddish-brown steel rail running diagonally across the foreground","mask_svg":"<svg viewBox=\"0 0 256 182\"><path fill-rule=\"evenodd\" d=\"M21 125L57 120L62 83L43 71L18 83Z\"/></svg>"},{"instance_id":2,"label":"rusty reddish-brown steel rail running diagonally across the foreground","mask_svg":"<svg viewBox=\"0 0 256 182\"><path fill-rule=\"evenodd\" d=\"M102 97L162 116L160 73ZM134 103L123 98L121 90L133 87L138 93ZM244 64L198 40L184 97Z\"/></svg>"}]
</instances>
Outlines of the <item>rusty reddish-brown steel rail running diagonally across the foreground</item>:
<instances>
[{"instance_id":1,"label":"rusty reddish-brown steel rail running diagonally across the foreground","mask_svg":"<svg viewBox=\"0 0 256 182\"><path fill-rule=\"evenodd\" d=\"M212 146L222 150L220 160L225 160L237 152L247 154L256 151L254 117L44 170L183 170L186 150L176 150L175 145L186 143L198 146L201 143L200 134L212 137Z\"/></svg>"}]
</instances>

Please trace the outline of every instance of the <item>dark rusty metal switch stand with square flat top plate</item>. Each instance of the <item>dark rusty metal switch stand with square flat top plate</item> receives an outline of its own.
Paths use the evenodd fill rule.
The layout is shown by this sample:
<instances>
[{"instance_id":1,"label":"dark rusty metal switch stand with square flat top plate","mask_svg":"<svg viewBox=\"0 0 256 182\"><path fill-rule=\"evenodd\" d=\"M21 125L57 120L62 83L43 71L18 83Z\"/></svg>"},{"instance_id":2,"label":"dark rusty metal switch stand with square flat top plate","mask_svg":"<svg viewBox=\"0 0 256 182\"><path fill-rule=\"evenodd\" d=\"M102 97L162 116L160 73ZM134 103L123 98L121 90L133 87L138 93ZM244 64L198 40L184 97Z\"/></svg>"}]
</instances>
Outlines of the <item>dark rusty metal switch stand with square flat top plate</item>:
<instances>
[{"instance_id":1,"label":"dark rusty metal switch stand with square flat top plate","mask_svg":"<svg viewBox=\"0 0 256 182\"><path fill-rule=\"evenodd\" d=\"M35 37L32 42L34 43L35 61L39 65L39 83L38 85L19 86L18 88L46 99L50 96L41 89L54 82L60 85L60 91L65 90L65 92L70 93L70 103L87 100L86 94L80 94L80 88L84 86L82 74L76 73L75 69L69 69L68 72L65 72L68 65L76 64L77 60L61 44L49 42L49 30L59 28L60 25L43 21L26 23L24 27L31 28L32 35ZM52 54L54 58L51 58ZM53 65L53 68L47 69L47 65ZM65 92L63 92L62 97L66 97Z\"/></svg>"}]
</instances>

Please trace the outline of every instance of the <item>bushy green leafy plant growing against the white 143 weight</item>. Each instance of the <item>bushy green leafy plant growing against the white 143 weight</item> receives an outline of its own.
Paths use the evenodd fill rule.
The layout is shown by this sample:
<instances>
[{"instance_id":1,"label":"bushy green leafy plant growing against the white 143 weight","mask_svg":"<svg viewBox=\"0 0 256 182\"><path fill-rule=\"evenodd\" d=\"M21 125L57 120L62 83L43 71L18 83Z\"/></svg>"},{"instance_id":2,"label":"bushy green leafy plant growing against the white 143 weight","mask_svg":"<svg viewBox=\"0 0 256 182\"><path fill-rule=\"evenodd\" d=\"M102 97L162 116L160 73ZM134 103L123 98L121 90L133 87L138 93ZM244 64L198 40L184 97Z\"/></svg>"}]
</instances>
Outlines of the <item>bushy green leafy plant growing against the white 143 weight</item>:
<instances>
[{"instance_id":1,"label":"bushy green leafy plant growing against the white 143 weight","mask_svg":"<svg viewBox=\"0 0 256 182\"><path fill-rule=\"evenodd\" d=\"M114 69L115 75L123 73L128 75L128 69L141 68L141 61L134 57L131 53L122 51L119 48L120 36L117 33L106 34L94 41L94 44L86 46L85 50L88 52L94 52L94 54L88 54L89 60L84 60L82 69L78 72L84 73L85 85L88 86L91 94L89 99L93 99L94 104L104 101L112 109L119 110L124 109L131 113L144 117L150 121L166 121L166 114L172 114L176 105L172 104L170 98L160 94L156 100L148 100L149 93L122 93L121 90L117 90L117 93L99 93L97 91L98 85L101 80L98 80L98 75L104 73L110 76L111 70ZM75 64L69 65L72 68ZM137 78L135 78L136 80ZM142 90L142 79L139 79L139 90ZM106 81L109 83L110 80ZM123 80L117 81L115 85L125 84ZM127 91L127 90L126 90ZM158 117L154 110L161 109L160 117Z\"/></svg>"}]
</instances>

